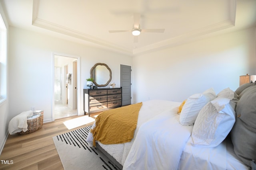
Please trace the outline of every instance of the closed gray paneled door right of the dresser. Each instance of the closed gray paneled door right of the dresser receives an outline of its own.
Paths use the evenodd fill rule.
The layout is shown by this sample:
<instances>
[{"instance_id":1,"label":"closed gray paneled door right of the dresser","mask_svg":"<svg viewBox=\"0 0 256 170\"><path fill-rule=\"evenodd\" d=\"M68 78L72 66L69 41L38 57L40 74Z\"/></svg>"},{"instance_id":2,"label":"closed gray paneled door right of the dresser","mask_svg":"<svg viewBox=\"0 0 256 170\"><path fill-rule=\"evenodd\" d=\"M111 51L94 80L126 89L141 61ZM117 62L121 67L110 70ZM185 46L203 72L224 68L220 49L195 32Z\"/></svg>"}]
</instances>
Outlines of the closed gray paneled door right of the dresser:
<instances>
[{"instance_id":1,"label":"closed gray paneled door right of the dresser","mask_svg":"<svg viewBox=\"0 0 256 170\"><path fill-rule=\"evenodd\" d=\"M120 86L122 87L122 106L131 104L131 66L120 65Z\"/></svg>"}]
</instances>

